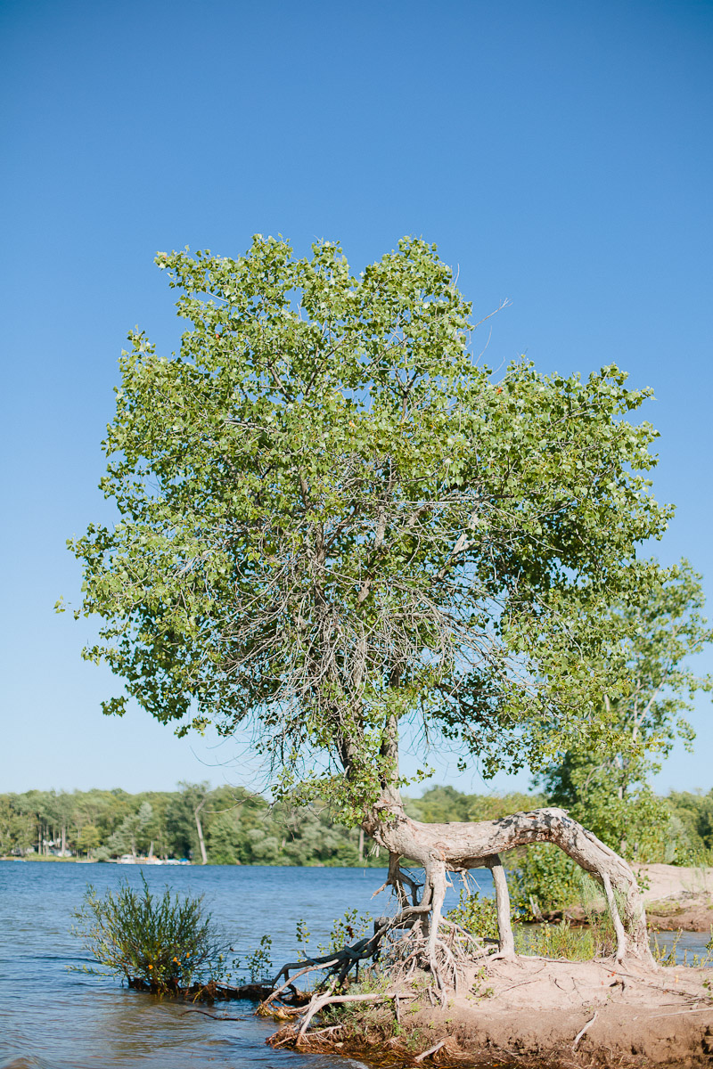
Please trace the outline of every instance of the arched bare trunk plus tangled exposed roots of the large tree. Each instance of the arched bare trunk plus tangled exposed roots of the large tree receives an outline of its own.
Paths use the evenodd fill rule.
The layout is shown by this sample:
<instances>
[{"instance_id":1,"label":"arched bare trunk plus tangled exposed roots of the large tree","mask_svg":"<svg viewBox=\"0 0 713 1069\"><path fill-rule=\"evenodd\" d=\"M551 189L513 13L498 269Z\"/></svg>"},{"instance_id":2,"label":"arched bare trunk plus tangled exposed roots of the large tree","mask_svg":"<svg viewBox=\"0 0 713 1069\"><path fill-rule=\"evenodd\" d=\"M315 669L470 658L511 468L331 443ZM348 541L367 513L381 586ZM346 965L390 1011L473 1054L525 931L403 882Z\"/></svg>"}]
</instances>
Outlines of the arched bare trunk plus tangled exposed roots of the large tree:
<instances>
[{"instance_id":1,"label":"arched bare trunk plus tangled exposed roots of the large tree","mask_svg":"<svg viewBox=\"0 0 713 1069\"><path fill-rule=\"evenodd\" d=\"M379 807L376 807L377 809ZM481 959L515 959L515 943L510 918L510 896L499 852L532 842L554 842L589 872L604 888L616 935L616 962L631 960L639 969L654 972L656 966L648 944L646 916L636 879L626 863L590 832L571 820L561 809L540 809L514 814L497 821L478 824L419 824L403 811L400 800L384 802L378 819L366 822L377 842L389 849L389 869L379 890L391 888L398 912L374 921L373 934L352 946L320 958L289 962L273 982L274 990L258 1012L275 1016L275 1002L294 980L320 970L324 978L304 1011L291 1009L297 1017L290 1035L296 1042L306 1041L307 1029L315 1013L326 1006L342 1002L394 1001L397 1014L401 997L414 997L404 990L416 970L430 977L427 996L434 995L445 1005L449 992L459 993L461 982ZM424 881L419 883L401 868L402 856L420 859ZM465 873L486 867L493 873L499 939L497 946L474 935L443 916L448 872ZM621 895L624 907L622 920L615 895ZM420 893L420 894L419 894ZM389 980L389 990L379 994L340 994L354 971L358 978L359 963L379 961ZM290 978L292 970L298 973ZM280 979L284 981L278 987ZM284 1016L284 1014L283 1014ZM279 1043L286 1043L281 1031Z\"/></svg>"}]
</instances>

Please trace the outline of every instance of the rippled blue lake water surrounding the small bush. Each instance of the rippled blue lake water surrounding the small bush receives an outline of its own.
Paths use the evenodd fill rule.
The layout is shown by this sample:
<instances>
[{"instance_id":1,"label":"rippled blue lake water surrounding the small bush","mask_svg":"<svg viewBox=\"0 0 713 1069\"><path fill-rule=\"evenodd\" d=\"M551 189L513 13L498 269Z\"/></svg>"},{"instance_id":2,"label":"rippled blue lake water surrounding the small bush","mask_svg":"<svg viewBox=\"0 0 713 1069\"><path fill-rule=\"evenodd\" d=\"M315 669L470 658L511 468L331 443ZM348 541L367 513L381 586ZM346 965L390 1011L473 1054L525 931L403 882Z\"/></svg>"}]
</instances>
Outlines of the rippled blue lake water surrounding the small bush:
<instances>
[{"instance_id":1,"label":"rippled blue lake water surrounding the small bush","mask_svg":"<svg viewBox=\"0 0 713 1069\"><path fill-rule=\"evenodd\" d=\"M253 1016L252 1003L196 1007L122 988L118 979L67 972L92 964L69 932L72 912L88 883L102 894L126 880L152 889L204 895L207 910L238 957L273 936L275 972L295 959L295 925L304 918L311 948L326 942L332 920L357 908L387 912L372 900L385 869L262 866L119 866L0 862L0 1069L356 1069L348 1058L274 1051L265 1039L277 1025ZM490 871L477 872L492 895ZM458 899L458 883L447 908ZM670 935L660 935L670 942ZM708 936L686 933L700 950ZM238 1018L239 1020L228 1020Z\"/></svg>"}]
</instances>

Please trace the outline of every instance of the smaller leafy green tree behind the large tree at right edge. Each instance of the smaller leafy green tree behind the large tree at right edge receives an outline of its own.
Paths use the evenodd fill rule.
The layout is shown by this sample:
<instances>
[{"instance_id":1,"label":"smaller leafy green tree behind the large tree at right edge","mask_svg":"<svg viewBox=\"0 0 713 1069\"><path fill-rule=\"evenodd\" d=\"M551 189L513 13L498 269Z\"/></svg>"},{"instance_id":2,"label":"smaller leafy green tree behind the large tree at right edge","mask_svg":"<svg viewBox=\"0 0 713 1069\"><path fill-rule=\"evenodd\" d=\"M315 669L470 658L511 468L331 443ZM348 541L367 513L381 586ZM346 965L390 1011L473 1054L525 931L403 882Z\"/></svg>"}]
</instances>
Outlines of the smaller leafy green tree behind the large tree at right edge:
<instances>
[{"instance_id":1,"label":"smaller leafy green tree behind the large tree at right edge","mask_svg":"<svg viewBox=\"0 0 713 1069\"><path fill-rule=\"evenodd\" d=\"M626 591L613 604L609 657L619 659L626 680L618 695L602 697L601 714L613 732L604 748L575 746L543 776L555 805L639 861L656 859L649 855L663 850L670 812L649 777L677 738L691 748L694 733L684 714L697 691L713 687L713 678L688 666L713 637L703 602L700 576L682 560L662 570L651 587Z\"/></svg>"}]
</instances>

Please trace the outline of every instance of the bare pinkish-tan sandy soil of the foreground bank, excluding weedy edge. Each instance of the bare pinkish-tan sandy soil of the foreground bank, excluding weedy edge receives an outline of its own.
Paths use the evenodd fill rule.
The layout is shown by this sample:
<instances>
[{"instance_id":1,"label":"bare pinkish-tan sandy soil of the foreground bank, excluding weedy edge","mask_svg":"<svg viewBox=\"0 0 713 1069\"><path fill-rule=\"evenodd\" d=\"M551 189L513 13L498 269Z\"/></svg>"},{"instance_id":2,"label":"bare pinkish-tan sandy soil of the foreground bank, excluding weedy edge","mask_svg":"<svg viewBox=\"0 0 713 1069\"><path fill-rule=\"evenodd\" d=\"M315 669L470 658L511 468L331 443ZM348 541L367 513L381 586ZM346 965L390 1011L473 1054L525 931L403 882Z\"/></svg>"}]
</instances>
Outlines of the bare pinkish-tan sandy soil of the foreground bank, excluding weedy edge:
<instances>
[{"instance_id":1,"label":"bare pinkish-tan sandy soil of the foreground bank, excluding weedy edge","mask_svg":"<svg viewBox=\"0 0 713 1069\"><path fill-rule=\"evenodd\" d=\"M602 962L492 962L451 1006L427 1011L433 1014L429 1031L435 1036L448 1028L451 1042L464 1050L560 1065L712 1066L713 998L706 978L710 972L692 969L651 974Z\"/></svg>"}]
</instances>

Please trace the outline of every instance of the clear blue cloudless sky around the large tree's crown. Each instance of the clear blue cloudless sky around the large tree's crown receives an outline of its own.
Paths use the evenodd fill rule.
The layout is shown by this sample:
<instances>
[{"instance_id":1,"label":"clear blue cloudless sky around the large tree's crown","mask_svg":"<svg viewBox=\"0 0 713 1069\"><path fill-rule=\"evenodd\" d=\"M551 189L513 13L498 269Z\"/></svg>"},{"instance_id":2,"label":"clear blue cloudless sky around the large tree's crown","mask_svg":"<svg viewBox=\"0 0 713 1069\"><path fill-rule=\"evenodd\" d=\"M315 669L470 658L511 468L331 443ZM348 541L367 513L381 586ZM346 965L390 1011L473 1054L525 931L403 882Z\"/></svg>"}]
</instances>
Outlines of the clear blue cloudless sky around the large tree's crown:
<instances>
[{"instance_id":1,"label":"clear blue cloudless sky around the large tree's crown","mask_svg":"<svg viewBox=\"0 0 713 1069\"><path fill-rule=\"evenodd\" d=\"M126 331L175 341L157 249L327 237L359 270L436 242L477 313L512 301L491 365L654 388L658 553L713 600L712 45L710 0L3 0L0 791L248 776L213 766L229 744L103 717L115 684L52 613L78 594L64 540L106 508ZM661 789L713 786L710 701L695 724Z\"/></svg>"}]
</instances>

